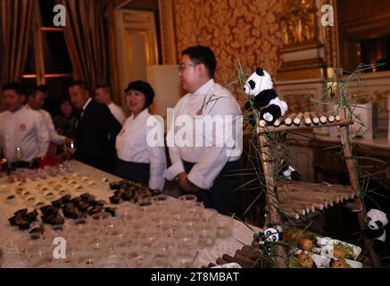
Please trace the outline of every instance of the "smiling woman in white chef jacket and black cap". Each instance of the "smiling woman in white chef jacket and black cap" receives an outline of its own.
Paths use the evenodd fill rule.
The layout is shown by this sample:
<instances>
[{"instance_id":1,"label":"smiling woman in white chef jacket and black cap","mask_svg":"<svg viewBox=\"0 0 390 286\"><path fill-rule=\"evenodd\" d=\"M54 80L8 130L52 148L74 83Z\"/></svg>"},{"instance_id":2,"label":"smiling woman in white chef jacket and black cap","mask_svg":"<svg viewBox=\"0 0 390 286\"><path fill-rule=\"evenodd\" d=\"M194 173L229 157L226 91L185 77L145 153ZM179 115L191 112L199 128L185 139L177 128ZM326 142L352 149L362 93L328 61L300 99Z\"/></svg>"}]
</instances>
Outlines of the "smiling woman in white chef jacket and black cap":
<instances>
[{"instance_id":1,"label":"smiling woman in white chef jacket and black cap","mask_svg":"<svg viewBox=\"0 0 390 286\"><path fill-rule=\"evenodd\" d=\"M118 159L115 172L122 178L142 183L150 189L162 189L165 183L165 148L163 142L156 147L151 144L154 142L146 141L148 131L153 128L147 126L146 122L148 118L151 122L150 116L153 116L147 107L153 103L154 90L149 83L137 80L129 83L125 93L130 116L116 138ZM163 139L161 123L157 122L156 127L162 131Z\"/></svg>"}]
</instances>

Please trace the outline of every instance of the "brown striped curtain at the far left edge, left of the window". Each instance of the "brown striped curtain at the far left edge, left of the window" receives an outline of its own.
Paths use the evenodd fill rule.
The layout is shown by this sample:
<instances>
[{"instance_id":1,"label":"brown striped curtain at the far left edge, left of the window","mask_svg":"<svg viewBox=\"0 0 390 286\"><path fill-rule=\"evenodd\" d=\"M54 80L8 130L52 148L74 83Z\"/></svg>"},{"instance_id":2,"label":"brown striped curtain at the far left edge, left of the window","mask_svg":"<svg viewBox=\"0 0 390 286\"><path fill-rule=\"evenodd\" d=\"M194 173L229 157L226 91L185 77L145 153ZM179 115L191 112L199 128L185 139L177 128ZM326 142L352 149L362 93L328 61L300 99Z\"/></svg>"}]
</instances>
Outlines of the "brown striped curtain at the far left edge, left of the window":
<instances>
[{"instance_id":1,"label":"brown striped curtain at the far left edge, left of the window","mask_svg":"<svg viewBox=\"0 0 390 286\"><path fill-rule=\"evenodd\" d=\"M0 1L0 86L21 80L35 0Z\"/></svg>"}]
</instances>

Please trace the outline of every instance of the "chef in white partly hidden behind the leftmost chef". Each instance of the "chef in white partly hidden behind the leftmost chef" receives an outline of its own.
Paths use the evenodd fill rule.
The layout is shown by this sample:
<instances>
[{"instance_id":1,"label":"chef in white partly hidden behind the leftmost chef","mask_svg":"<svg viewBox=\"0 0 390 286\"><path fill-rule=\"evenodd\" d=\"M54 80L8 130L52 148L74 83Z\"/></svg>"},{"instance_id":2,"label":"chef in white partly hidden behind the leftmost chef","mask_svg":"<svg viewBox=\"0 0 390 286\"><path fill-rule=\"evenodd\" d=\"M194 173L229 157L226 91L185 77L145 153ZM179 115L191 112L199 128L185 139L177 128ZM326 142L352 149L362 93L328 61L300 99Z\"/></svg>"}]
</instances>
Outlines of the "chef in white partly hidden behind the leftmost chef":
<instances>
[{"instance_id":1,"label":"chef in white partly hidden behind the leftmost chef","mask_svg":"<svg viewBox=\"0 0 390 286\"><path fill-rule=\"evenodd\" d=\"M49 131L50 142L53 142L57 145L70 143L71 139L59 135L57 133L57 131L54 128L52 116L48 112L46 112L45 109L42 108L42 106L45 104L45 97L46 97L45 94L37 90L36 88L32 88L29 90L28 96L29 99L26 108L35 110L39 114L42 114L46 123L47 130Z\"/></svg>"}]
</instances>

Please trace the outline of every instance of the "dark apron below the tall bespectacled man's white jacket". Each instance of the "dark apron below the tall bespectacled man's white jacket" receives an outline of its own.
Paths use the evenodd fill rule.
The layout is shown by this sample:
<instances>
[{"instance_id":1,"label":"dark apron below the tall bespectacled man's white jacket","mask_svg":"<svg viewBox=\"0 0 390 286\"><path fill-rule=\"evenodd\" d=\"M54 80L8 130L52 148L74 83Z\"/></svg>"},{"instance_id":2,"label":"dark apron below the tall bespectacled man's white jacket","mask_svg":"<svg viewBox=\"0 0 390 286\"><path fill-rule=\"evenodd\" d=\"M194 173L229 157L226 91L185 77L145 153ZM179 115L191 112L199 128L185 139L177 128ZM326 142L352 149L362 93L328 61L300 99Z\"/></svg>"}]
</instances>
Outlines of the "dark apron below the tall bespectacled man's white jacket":
<instances>
[{"instance_id":1,"label":"dark apron below the tall bespectacled man's white jacket","mask_svg":"<svg viewBox=\"0 0 390 286\"><path fill-rule=\"evenodd\" d=\"M190 172L195 163L184 161L184 169ZM243 192L240 188L240 176L236 175L240 170L238 161L225 164L220 174L215 178L212 189L201 189L195 191L199 201L202 201L205 207L212 207L220 214L236 214L242 217L244 213Z\"/></svg>"}]
</instances>

